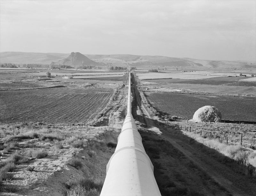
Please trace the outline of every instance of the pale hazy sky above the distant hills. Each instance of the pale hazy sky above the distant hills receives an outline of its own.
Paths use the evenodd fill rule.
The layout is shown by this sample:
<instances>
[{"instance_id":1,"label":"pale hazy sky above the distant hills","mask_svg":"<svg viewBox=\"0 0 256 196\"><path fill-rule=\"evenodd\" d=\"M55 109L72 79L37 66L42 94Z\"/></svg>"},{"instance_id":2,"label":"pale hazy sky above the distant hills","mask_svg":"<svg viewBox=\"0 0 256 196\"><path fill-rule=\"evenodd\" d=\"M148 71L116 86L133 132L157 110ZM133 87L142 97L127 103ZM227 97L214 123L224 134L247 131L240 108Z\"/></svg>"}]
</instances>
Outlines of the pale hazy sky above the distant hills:
<instances>
[{"instance_id":1,"label":"pale hazy sky above the distant hills","mask_svg":"<svg viewBox=\"0 0 256 196\"><path fill-rule=\"evenodd\" d=\"M256 1L0 1L0 51L256 61Z\"/></svg>"}]
</instances>

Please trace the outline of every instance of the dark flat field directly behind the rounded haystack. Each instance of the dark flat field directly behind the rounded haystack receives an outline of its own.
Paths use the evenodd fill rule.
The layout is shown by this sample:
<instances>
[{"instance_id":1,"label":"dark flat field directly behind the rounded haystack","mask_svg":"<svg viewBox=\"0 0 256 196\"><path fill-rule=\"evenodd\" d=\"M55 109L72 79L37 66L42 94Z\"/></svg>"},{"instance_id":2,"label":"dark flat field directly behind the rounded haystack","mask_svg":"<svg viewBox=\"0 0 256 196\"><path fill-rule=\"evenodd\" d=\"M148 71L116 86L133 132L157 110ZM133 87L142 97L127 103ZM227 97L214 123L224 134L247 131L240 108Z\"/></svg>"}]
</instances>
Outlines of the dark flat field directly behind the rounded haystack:
<instances>
[{"instance_id":1,"label":"dark flat field directly behind the rounded haystack","mask_svg":"<svg viewBox=\"0 0 256 196\"><path fill-rule=\"evenodd\" d=\"M170 115L192 119L197 109L212 105L220 110L222 119L256 121L255 97L152 92L145 94L153 107Z\"/></svg>"}]
</instances>

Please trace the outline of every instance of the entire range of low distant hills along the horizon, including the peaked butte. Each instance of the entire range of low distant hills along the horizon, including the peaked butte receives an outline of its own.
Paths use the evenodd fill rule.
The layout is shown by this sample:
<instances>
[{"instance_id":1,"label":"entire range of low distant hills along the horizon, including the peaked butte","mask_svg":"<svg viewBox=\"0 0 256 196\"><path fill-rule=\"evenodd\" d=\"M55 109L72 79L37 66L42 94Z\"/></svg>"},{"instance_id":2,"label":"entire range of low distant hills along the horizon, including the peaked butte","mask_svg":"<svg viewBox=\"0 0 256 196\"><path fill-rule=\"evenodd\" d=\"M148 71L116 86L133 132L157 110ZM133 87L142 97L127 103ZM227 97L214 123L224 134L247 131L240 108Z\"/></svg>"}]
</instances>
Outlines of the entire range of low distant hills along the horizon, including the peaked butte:
<instances>
[{"instance_id":1,"label":"entire range of low distant hills along the horizon, including the peaked butte","mask_svg":"<svg viewBox=\"0 0 256 196\"><path fill-rule=\"evenodd\" d=\"M65 65L93 65L93 66L132 66L132 67L207 67L207 68L249 68L255 69L255 62L210 61L191 58L173 58L167 56L141 56L131 54L81 54L72 52L62 53L24 53L1 52L0 62L11 63L41 63Z\"/></svg>"}]
</instances>

